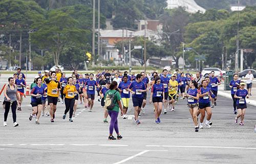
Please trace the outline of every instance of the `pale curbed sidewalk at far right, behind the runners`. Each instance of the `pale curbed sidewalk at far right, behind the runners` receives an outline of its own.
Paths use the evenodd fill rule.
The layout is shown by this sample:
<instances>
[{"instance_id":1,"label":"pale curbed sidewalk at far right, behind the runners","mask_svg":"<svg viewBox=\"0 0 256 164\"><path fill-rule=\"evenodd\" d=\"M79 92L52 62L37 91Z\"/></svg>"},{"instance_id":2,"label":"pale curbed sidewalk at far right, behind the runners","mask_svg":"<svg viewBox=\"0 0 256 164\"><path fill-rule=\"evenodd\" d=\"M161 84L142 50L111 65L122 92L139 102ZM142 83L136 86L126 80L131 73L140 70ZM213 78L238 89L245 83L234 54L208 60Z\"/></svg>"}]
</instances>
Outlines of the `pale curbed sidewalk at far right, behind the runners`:
<instances>
[{"instance_id":1,"label":"pale curbed sidewalk at far right, behind the runners","mask_svg":"<svg viewBox=\"0 0 256 164\"><path fill-rule=\"evenodd\" d=\"M224 85L223 84L221 84L219 86L218 95L229 98L229 99L232 99L230 90L224 90ZM250 96L249 99L246 100L246 102L249 105L256 106L256 87L252 87L251 95L252 96Z\"/></svg>"}]
</instances>

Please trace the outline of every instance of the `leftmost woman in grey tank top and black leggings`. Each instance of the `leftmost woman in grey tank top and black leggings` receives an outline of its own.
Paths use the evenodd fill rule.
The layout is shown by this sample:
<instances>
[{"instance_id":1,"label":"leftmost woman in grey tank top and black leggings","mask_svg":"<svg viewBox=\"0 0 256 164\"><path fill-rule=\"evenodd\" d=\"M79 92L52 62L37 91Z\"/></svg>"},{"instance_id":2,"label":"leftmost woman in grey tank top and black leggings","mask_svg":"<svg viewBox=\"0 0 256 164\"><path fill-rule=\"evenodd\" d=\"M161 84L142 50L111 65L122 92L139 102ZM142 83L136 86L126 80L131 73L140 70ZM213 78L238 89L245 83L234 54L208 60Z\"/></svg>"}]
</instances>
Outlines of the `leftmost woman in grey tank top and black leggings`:
<instances>
[{"instance_id":1,"label":"leftmost woman in grey tank top and black leggings","mask_svg":"<svg viewBox=\"0 0 256 164\"><path fill-rule=\"evenodd\" d=\"M5 104L5 114L4 114L4 126L7 126L7 117L10 111L10 107L12 108L12 119L13 126L18 126L16 122L16 107L17 100L20 102L20 95L18 94L17 88L14 85L14 79L12 77L8 78L9 84L4 88L4 104Z\"/></svg>"}]
</instances>

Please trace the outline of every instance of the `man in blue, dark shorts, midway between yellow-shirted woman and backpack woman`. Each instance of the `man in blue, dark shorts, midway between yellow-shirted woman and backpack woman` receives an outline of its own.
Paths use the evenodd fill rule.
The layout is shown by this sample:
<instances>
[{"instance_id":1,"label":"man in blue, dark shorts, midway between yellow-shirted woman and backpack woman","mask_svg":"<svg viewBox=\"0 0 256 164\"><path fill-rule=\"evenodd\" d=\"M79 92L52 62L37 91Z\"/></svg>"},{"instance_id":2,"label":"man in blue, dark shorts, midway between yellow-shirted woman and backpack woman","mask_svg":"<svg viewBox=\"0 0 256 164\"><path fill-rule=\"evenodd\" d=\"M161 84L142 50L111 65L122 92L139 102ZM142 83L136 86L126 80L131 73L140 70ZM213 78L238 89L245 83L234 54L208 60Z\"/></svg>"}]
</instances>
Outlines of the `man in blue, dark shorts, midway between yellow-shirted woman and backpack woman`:
<instances>
[{"instance_id":1,"label":"man in blue, dark shorts, midway between yellow-shirted woman and backpack woman","mask_svg":"<svg viewBox=\"0 0 256 164\"><path fill-rule=\"evenodd\" d=\"M92 108L94 105L94 99L95 99L95 87L99 87L97 82L93 80L94 75L90 74L90 80L88 80L85 85L85 89L83 92L83 95L88 99L88 111L92 112Z\"/></svg>"}]
</instances>

